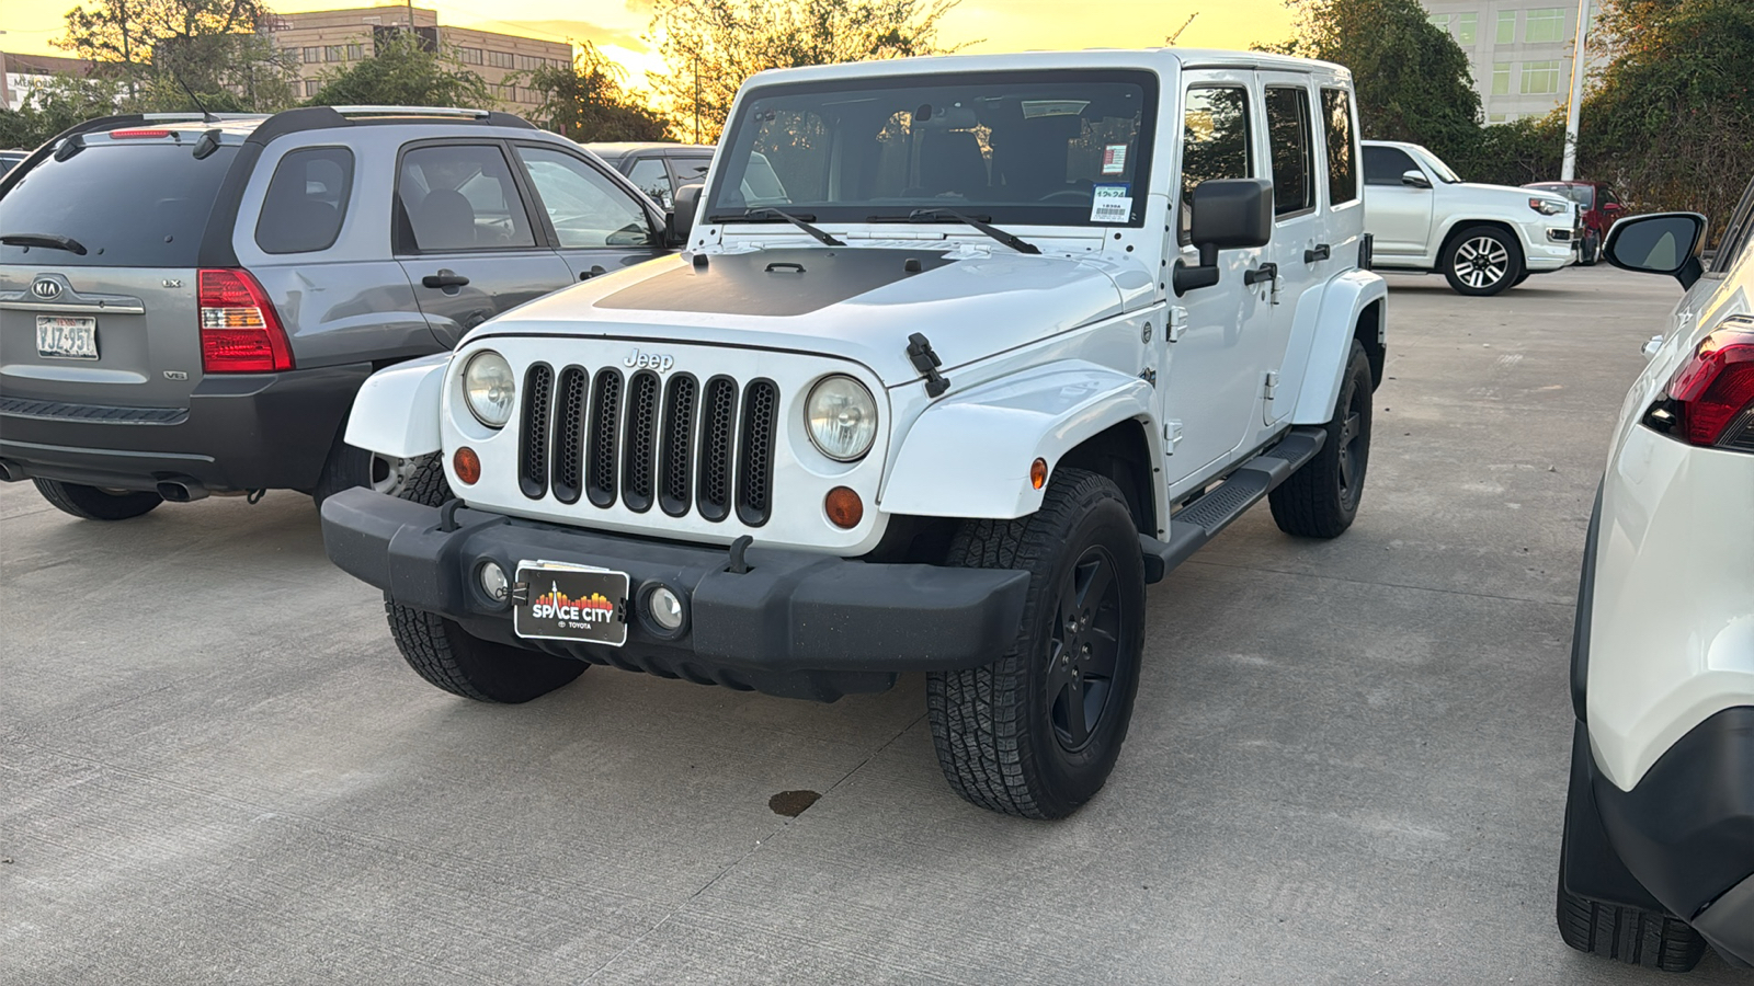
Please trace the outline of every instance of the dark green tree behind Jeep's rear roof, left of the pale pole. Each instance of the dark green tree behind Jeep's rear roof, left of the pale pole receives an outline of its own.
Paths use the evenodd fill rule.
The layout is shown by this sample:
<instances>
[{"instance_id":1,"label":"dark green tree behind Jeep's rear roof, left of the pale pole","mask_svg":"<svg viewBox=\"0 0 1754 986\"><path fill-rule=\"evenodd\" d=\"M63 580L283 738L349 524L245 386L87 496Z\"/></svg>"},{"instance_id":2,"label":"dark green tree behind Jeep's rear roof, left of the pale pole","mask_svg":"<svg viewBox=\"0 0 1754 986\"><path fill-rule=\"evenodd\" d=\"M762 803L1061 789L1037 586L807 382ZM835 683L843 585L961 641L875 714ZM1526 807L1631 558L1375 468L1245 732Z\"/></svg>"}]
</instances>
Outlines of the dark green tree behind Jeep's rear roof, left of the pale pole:
<instances>
[{"instance_id":1,"label":"dark green tree behind Jeep's rear roof, left of the pale pole","mask_svg":"<svg viewBox=\"0 0 1754 986\"><path fill-rule=\"evenodd\" d=\"M1468 158L1480 132L1468 56L1417 0L1289 0L1289 7L1296 33L1268 49L1351 68L1366 139Z\"/></svg>"}]
</instances>

